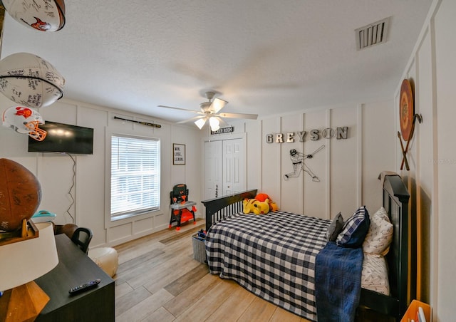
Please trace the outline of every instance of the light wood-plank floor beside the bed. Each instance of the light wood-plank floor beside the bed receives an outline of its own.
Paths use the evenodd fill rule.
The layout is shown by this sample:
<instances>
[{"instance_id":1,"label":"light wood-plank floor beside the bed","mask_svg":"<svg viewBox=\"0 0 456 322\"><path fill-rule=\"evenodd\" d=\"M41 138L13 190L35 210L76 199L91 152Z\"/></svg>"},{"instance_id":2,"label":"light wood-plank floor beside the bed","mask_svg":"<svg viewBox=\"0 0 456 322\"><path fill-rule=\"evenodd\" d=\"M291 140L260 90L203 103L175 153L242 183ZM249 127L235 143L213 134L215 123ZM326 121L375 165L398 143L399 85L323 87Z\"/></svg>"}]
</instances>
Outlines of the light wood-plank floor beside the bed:
<instances>
[{"instance_id":1,"label":"light wood-plank floor beside the bed","mask_svg":"<svg viewBox=\"0 0 456 322\"><path fill-rule=\"evenodd\" d=\"M115 246L115 321L307 321L209 274L193 259L202 228L197 220Z\"/></svg>"}]
</instances>

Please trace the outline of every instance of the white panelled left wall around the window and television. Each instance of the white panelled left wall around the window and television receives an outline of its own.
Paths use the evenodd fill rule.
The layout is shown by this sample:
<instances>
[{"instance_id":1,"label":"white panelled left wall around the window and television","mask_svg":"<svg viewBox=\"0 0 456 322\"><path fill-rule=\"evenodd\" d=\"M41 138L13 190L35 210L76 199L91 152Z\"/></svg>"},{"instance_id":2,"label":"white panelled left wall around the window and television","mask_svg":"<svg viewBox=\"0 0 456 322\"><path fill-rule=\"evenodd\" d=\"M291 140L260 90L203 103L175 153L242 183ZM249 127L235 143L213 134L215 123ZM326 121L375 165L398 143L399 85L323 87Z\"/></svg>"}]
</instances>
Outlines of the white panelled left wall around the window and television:
<instances>
[{"instance_id":1,"label":"white panelled left wall around the window and television","mask_svg":"<svg viewBox=\"0 0 456 322\"><path fill-rule=\"evenodd\" d=\"M0 113L14 105L4 95L0 95ZM91 247L115 245L136 239L161 229L170 222L170 191L178 183L187 183L190 198L198 202L198 216L202 217L201 193L201 145L199 130L179 125L171 125L160 120L152 120L145 115L135 115L119 110L103 108L87 103L62 99L41 108L39 113L45 120L80 125L94 129L93 155L74 155L76 160L75 185L68 194L73 182L73 161L68 155L27 152L26 135L15 133L0 126L0 157L21 163L31 170L41 183L42 201L38 209L46 209L57 214L56 224L75 223L93 230ZM154 122L162 128L151 128L121 120L120 118ZM105 221L109 212L106 189L106 133L130 133L140 136L160 138L161 151L161 208L157 212L135 217L133 222L120 220L114 224ZM108 137L109 139L109 137ZM186 165L172 165L172 143L186 145ZM75 199L72 204L72 198ZM68 212L67 212L68 210ZM72 218L73 217L73 218Z\"/></svg>"}]
</instances>

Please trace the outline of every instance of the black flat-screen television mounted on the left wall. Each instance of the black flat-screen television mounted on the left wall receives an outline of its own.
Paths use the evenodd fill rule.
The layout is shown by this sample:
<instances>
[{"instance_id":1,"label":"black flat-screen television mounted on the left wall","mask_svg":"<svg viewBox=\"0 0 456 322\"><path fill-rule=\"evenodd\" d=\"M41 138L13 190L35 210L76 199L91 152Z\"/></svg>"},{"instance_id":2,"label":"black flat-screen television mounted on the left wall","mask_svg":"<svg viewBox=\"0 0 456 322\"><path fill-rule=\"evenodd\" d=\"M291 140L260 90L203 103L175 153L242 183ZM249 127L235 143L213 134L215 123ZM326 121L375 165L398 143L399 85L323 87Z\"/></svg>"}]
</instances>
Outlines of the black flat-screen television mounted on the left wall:
<instances>
[{"instance_id":1,"label":"black flat-screen television mounted on the left wall","mask_svg":"<svg viewBox=\"0 0 456 322\"><path fill-rule=\"evenodd\" d=\"M93 155L93 128L45 121L39 128L47 132L42 141L28 137L28 152Z\"/></svg>"}]
</instances>

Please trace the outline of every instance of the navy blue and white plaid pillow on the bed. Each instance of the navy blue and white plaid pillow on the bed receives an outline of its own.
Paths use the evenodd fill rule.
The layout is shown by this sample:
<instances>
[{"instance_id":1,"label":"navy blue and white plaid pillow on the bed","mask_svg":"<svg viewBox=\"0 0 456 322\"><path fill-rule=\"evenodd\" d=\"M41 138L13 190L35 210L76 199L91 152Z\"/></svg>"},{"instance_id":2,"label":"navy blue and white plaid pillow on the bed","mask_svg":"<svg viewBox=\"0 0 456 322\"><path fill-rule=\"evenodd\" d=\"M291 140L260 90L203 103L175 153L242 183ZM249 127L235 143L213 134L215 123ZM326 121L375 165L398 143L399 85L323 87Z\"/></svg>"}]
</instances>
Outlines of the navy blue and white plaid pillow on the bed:
<instances>
[{"instance_id":1,"label":"navy blue and white plaid pillow on the bed","mask_svg":"<svg viewBox=\"0 0 456 322\"><path fill-rule=\"evenodd\" d=\"M369 218L366 206L360 207L356 212L343 224L343 228L336 239L338 246L360 247L366 238L369 230L371 219Z\"/></svg>"}]
</instances>

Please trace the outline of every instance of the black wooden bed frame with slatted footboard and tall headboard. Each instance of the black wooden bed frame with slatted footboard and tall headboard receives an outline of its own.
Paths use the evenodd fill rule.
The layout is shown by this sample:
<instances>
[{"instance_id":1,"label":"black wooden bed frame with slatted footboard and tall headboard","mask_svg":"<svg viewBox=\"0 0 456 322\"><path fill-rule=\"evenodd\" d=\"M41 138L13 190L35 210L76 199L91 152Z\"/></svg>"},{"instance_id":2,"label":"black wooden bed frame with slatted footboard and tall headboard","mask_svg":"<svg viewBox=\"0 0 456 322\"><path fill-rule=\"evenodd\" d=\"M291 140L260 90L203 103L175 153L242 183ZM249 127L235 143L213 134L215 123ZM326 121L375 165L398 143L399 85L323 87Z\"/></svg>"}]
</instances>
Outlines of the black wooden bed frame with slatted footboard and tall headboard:
<instances>
[{"instance_id":1,"label":"black wooden bed frame with slatted footboard and tall headboard","mask_svg":"<svg viewBox=\"0 0 456 322\"><path fill-rule=\"evenodd\" d=\"M206 207L206 228L231 214L242 212L243 200L254 198L257 189L231 194L229 196L202 201ZM383 182L383 207L393 223L393 241L386 256L389 269L390 296L361 289L360 306L392 316L397 321L403 316L410 303L408 284L408 201L410 194L398 175L385 176ZM412 239L413 240L413 239ZM410 281L413 283L413 281ZM411 293L411 292L410 292Z\"/></svg>"}]
</instances>

